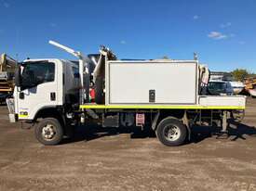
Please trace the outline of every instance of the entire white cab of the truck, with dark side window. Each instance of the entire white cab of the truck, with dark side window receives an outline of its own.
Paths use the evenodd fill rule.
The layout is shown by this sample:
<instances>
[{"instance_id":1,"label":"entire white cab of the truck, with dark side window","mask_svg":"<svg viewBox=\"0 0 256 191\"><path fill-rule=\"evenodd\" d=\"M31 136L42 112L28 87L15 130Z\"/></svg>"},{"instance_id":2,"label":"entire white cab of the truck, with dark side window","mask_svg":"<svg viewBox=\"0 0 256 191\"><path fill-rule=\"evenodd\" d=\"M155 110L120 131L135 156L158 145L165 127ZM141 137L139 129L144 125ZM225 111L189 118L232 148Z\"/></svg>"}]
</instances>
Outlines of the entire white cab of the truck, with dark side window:
<instances>
[{"instance_id":1,"label":"entire white cab of the truck, with dark side window","mask_svg":"<svg viewBox=\"0 0 256 191\"><path fill-rule=\"evenodd\" d=\"M14 100L19 120L34 121L44 110L78 102L79 72L72 61L27 59L17 72Z\"/></svg>"}]
</instances>

